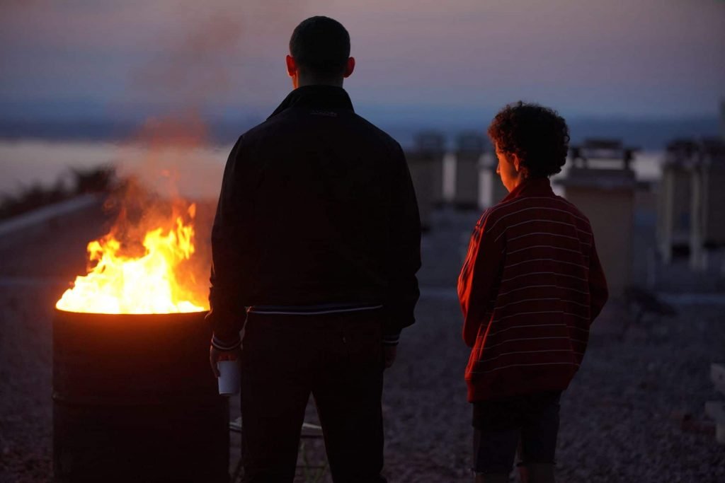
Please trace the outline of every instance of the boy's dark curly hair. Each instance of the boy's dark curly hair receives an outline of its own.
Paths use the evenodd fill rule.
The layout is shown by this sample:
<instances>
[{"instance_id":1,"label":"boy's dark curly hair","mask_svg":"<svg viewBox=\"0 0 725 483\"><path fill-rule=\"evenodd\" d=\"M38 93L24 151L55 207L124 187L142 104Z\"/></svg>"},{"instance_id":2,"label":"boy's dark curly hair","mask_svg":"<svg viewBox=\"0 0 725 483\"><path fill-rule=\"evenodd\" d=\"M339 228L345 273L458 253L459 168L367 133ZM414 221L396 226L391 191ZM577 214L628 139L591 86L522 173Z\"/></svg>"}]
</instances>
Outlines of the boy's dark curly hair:
<instances>
[{"instance_id":1,"label":"boy's dark curly hair","mask_svg":"<svg viewBox=\"0 0 725 483\"><path fill-rule=\"evenodd\" d=\"M518 101L508 104L489 125L489 138L504 154L516 154L530 177L561 171L569 151L569 128L555 110Z\"/></svg>"}]
</instances>

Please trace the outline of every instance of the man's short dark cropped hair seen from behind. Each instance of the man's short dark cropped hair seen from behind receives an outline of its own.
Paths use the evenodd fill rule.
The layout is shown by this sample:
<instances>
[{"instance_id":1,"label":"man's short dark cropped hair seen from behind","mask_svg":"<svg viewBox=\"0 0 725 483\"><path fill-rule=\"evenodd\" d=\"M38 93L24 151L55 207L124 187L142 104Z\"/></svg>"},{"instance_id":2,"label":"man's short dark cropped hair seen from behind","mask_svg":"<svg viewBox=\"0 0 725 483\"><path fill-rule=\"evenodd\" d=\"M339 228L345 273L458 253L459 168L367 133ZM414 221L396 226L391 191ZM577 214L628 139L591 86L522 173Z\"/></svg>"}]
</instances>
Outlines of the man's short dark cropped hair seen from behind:
<instances>
[{"instance_id":1,"label":"man's short dark cropped hair seen from behind","mask_svg":"<svg viewBox=\"0 0 725 483\"><path fill-rule=\"evenodd\" d=\"M350 56L350 35L337 20L310 17L292 32L289 54L312 75L341 76Z\"/></svg>"}]
</instances>

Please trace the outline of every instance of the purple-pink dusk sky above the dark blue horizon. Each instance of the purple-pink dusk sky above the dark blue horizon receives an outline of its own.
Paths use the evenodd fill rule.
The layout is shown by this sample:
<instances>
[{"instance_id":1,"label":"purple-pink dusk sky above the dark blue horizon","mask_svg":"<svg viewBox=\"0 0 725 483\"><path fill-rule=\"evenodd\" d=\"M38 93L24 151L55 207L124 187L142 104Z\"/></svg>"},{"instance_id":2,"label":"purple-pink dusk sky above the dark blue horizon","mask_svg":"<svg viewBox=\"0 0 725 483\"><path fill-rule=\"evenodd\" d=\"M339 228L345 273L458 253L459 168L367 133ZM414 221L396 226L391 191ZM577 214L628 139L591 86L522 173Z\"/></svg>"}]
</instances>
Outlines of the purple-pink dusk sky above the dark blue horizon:
<instances>
[{"instance_id":1,"label":"purple-pink dusk sky above the dark blue horizon","mask_svg":"<svg viewBox=\"0 0 725 483\"><path fill-rule=\"evenodd\" d=\"M345 87L363 113L521 98L575 116L714 117L725 98L723 0L1 0L0 107L267 114L291 88L291 30L314 14L349 30Z\"/></svg>"}]
</instances>

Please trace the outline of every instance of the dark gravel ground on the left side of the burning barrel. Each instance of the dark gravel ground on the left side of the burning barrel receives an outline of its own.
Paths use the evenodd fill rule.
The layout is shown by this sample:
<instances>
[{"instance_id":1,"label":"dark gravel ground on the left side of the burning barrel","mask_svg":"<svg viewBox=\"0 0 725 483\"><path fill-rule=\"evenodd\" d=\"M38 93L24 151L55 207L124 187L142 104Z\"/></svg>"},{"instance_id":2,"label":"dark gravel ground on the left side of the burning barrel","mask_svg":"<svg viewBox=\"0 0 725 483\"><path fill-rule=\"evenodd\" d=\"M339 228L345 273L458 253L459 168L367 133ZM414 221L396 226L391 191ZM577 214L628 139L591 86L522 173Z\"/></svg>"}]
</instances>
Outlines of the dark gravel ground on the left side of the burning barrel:
<instances>
[{"instance_id":1,"label":"dark gravel ground on the left side of the burning barrel","mask_svg":"<svg viewBox=\"0 0 725 483\"><path fill-rule=\"evenodd\" d=\"M0 240L2 483L51 479L53 308L105 221L94 211Z\"/></svg>"}]
</instances>

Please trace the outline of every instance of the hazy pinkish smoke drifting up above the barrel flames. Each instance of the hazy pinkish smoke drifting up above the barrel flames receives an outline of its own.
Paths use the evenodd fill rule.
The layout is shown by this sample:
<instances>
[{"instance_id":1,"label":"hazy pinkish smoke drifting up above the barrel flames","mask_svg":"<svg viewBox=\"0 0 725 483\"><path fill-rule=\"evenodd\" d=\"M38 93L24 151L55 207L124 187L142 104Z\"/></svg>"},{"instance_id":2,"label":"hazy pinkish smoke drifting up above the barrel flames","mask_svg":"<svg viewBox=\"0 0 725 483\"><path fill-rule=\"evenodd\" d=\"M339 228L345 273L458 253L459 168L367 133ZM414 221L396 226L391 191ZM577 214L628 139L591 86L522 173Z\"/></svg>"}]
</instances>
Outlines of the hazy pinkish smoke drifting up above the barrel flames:
<instances>
[{"instance_id":1,"label":"hazy pinkish smoke drifting up above the barrel flames","mask_svg":"<svg viewBox=\"0 0 725 483\"><path fill-rule=\"evenodd\" d=\"M146 119L125 146L121 174L167 196L215 199L231 146L211 146L205 117L220 106L239 104L239 96L249 101L268 96L274 83L254 72L260 57L276 60L279 76L286 77L287 42L307 16L305 3L218 1L200 11L187 0L176 9L183 13L175 17L174 30L159 33L159 54L130 74L130 90L162 100L165 108ZM270 44L273 49L260 47Z\"/></svg>"}]
</instances>

